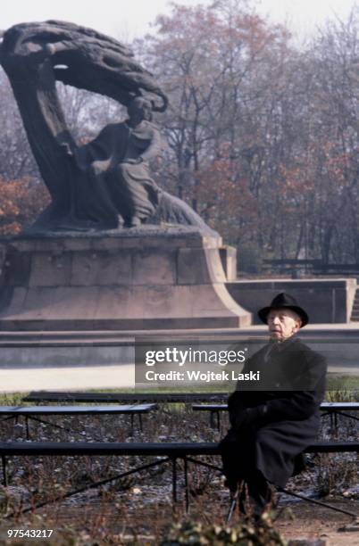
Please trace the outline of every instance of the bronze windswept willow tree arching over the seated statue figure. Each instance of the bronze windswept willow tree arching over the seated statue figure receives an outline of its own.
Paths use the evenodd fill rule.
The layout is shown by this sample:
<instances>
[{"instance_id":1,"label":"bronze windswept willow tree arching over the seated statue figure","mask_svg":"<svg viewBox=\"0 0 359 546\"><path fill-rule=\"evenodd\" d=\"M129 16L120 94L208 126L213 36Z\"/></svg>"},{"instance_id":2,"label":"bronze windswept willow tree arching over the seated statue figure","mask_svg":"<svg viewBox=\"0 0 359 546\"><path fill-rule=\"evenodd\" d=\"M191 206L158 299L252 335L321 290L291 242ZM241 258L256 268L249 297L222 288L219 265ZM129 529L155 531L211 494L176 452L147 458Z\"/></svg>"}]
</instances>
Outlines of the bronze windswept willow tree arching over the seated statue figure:
<instances>
[{"instance_id":1,"label":"bronze windswept willow tree arching over the seated statue figure","mask_svg":"<svg viewBox=\"0 0 359 546\"><path fill-rule=\"evenodd\" d=\"M137 97L146 97L153 112L163 112L168 100L151 73L117 40L63 21L21 23L8 29L0 46L0 62L52 199L36 227L117 227L124 215L123 206L116 205L114 186L107 185L107 178L111 178L107 175L113 172L116 153L116 161L127 153L126 143L114 139L128 135L122 135L124 127L113 130L107 126L92 145L77 145L66 125L55 82L106 95L126 107ZM147 121L142 133L151 139L154 127ZM128 134L131 131L129 127ZM141 138L140 134L139 141ZM116 149L115 153L109 152L109 147ZM143 160L140 157L138 161ZM99 161L101 168L94 169L94 162ZM156 212L161 211L164 219L208 229L186 203L165 192L158 194Z\"/></svg>"}]
</instances>

